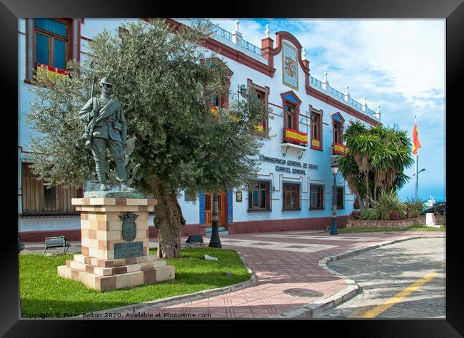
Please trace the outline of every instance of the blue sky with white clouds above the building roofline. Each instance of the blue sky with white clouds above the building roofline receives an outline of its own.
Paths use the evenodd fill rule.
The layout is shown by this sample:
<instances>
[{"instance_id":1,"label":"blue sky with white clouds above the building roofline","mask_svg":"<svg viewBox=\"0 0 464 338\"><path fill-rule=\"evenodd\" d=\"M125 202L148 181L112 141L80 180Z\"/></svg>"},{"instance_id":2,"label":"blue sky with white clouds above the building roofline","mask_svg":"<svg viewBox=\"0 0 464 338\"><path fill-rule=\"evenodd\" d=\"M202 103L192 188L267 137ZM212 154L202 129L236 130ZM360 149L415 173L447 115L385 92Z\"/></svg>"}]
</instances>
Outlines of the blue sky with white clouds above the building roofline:
<instances>
[{"instance_id":1,"label":"blue sky with white clouds above the building roofline","mask_svg":"<svg viewBox=\"0 0 464 338\"><path fill-rule=\"evenodd\" d=\"M235 19L211 19L233 31ZM412 138L417 115L420 143L419 196L445 200L445 20L444 19L240 19L243 39L261 46L269 25L289 31L306 49L311 76L338 91L349 86L358 102L380 105L382 123L397 124ZM415 165L400 198L415 194Z\"/></svg>"}]
</instances>

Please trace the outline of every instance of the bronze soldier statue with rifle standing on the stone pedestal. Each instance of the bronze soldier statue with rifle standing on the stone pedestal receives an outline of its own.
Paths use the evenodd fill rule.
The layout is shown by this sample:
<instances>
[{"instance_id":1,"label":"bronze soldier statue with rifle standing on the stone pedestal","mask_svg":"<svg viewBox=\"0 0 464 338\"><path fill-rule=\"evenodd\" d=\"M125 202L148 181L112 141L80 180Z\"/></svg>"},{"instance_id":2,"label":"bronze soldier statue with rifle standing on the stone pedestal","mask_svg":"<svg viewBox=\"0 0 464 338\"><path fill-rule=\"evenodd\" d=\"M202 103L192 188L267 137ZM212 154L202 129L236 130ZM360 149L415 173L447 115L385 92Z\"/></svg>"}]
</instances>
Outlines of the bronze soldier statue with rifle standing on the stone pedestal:
<instances>
[{"instance_id":1,"label":"bronze soldier statue with rifle standing on the stone pedestal","mask_svg":"<svg viewBox=\"0 0 464 338\"><path fill-rule=\"evenodd\" d=\"M124 147L127 137L126 118L121 102L111 98L114 82L109 77L100 81L101 96L92 97L79 112L81 121L88 123L83 138L86 147L91 147L96 163L96 175L101 184L100 190L108 191L106 183L106 148L109 148L116 163L116 173L121 179L121 191L133 191L127 185L124 168Z\"/></svg>"}]
</instances>

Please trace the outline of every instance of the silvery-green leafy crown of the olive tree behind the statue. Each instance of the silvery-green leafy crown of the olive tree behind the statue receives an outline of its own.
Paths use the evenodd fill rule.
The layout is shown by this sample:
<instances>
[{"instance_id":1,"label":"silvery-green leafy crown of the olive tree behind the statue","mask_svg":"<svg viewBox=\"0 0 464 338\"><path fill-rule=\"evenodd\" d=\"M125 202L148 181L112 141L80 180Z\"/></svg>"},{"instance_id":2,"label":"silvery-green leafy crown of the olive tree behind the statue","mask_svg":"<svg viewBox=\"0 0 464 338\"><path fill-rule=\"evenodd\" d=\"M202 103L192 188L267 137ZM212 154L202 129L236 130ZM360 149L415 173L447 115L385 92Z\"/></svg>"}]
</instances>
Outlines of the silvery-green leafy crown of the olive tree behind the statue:
<instances>
[{"instance_id":1,"label":"silvery-green leafy crown of the olive tree behind the statue","mask_svg":"<svg viewBox=\"0 0 464 338\"><path fill-rule=\"evenodd\" d=\"M139 191L153 193L156 180L169 195L215 192L255 178L262 145L255 126L267 112L248 100L253 97L249 90L213 116L211 95L225 92L231 73L218 58L201 62L198 46L211 35L210 27L176 34L171 29L153 19L129 22L119 35L102 31L89 42L83 64L69 63L69 78L37 76L32 86L37 101L28 116L41 134L31 143L38 153L36 174L52 184L81 185L90 178L94 160L80 140L84 124L78 113L90 98L92 81L111 76L128 135L136 138L126 168Z\"/></svg>"}]
</instances>

